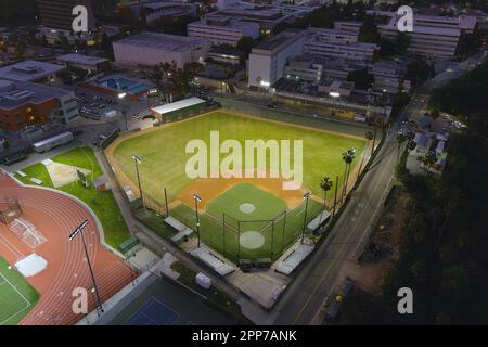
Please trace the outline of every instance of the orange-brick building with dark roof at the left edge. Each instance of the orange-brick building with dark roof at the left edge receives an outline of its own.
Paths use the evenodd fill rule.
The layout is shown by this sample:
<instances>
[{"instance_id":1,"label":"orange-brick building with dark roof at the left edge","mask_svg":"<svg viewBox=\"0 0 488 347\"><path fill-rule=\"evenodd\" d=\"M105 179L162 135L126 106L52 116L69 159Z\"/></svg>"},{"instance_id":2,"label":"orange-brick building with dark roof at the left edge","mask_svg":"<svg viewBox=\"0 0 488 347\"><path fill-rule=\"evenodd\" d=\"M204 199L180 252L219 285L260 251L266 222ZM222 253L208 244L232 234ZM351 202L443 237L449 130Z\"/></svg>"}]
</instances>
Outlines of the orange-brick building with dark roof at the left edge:
<instances>
[{"instance_id":1,"label":"orange-brick building with dark roof at the left edge","mask_svg":"<svg viewBox=\"0 0 488 347\"><path fill-rule=\"evenodd\" d=\"M72 91L0 79L0 129L18 131L33 125L68 124L77 117L78 103Z\"/></svg>"}]
</instances>

